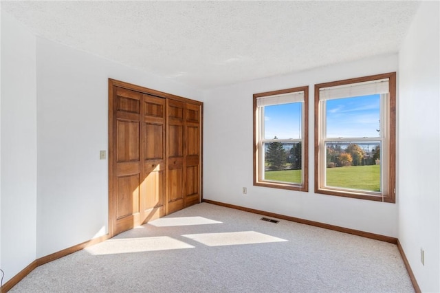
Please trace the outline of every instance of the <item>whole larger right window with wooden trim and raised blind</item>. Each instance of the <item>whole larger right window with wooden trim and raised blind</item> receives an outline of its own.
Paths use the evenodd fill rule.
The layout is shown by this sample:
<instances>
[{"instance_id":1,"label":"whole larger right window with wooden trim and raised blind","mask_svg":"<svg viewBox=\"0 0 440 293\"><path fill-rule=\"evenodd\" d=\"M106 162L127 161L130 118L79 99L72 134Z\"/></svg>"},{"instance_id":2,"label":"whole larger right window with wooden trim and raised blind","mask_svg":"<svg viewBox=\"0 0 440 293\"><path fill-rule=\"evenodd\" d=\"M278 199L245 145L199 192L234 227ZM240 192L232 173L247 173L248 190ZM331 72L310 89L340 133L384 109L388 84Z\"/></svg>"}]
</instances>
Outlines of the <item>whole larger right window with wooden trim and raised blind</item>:
<instances>
[{"instance_id":1,"label":"whole larger right window with wooden trim and raised blind","mask_svg":"<svg viewBox=\"0 0 440 293\"><path fill-rule=\"evenodd\" d=\"M396 74L315 85L315 192L395 202Z\"/></svg>"}]
</instances>

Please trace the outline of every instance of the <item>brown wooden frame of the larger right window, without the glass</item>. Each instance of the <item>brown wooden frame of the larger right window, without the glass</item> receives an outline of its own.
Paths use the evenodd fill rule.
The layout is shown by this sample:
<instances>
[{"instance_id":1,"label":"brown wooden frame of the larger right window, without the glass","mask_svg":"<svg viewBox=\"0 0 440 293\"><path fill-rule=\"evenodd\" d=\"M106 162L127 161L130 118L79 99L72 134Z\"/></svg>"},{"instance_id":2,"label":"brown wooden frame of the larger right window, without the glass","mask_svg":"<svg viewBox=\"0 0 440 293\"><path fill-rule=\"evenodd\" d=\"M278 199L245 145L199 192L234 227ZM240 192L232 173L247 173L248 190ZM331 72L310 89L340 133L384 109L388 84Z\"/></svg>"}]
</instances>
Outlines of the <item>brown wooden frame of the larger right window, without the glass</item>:
<instances>
[{"instance_id":1,"label":"brown wooden frame of the larger right window, without the glass","mask_svg":"<svg viewBox=\"0 0 440 293\"><path fill-rule=\"evenodd\" d=\"M354 83L364 83L373 80L381 80L388 78L388 103L386 107L386 113L380 113L381 118L384 115L387 118L386 125L384 125L384 130L386 131L387 142L388 142L388 158L382 158L381 160L386 160L386 175L384 177L387 181L388 192L381 193L369 192L369 191L356 191L344 188L333 188L329 186L323 186L323 175L327 166L323 166L325 159L321 158L322 153L325 152L325 142L326 138L322 138L323 133L322 127L325 127L326 114L321 113L324 107L321 106L322 100L320 100L320 89L325 87L336 87L339 85L350 85ZM381 98L382 99L382 98ZM359 78L350 78L345 80L337 80L329 83L320 83L315 85L315 193L325 194L325 195L336 195L342 197L351 197L356 199L367 199L377 202L388 202L395 203L395 177L396 177L396 72L390 72L386 74L376 74L372 76L363 76ZM323 142L323 143L322 143ZM323 144L323 145L322 145ZM384 146L382 146L384 147ZM382 168L382 165L381 165ZM381 169L382 173L382 169ZM382 177L383 178L383 177Z\"/></svg>"}]
</instances>

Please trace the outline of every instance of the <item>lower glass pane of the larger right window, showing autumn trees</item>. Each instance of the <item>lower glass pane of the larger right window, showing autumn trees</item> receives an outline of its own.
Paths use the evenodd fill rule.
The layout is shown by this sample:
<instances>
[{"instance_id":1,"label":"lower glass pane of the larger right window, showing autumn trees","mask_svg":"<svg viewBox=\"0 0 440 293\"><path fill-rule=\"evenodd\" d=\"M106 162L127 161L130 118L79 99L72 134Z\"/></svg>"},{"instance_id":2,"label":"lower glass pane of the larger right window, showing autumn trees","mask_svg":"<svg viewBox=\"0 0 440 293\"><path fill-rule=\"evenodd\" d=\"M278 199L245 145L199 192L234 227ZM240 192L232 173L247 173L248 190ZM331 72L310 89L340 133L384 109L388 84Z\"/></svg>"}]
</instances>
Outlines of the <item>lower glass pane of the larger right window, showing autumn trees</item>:
<instances>
[{"instance_id":1,"label":"lower glass pane of the larger right window, showing autumn trees","mask_svg":"<svg viewBox=\"0 0 440 293\"><path fill-rule=\"evenodd\" d=\"M326 142L325 186L381 191L380 142Z\"/></svg>"}]
</instances>

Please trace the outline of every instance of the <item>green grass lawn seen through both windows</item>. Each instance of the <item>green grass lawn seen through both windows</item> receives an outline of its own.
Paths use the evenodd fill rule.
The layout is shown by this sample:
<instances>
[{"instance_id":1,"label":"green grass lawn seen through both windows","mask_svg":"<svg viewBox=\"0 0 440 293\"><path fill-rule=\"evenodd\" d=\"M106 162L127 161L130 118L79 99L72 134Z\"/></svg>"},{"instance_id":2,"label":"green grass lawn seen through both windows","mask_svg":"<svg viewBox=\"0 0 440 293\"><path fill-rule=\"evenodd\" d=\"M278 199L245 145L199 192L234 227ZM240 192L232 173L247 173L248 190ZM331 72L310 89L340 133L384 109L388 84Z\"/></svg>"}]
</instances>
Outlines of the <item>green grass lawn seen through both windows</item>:
<instances>
[{"instance_id":1,"label":"green grass lawn seen through both windows","mask_svg":"<svg viewBox=\"0 0 440 293\"><path fill-rule=\"evenodd\" d=\"M327 186L380 191L380 165L327 168ZM265 180L300 183L300 170L265 171Z\"/></svg>"}]
</instances>

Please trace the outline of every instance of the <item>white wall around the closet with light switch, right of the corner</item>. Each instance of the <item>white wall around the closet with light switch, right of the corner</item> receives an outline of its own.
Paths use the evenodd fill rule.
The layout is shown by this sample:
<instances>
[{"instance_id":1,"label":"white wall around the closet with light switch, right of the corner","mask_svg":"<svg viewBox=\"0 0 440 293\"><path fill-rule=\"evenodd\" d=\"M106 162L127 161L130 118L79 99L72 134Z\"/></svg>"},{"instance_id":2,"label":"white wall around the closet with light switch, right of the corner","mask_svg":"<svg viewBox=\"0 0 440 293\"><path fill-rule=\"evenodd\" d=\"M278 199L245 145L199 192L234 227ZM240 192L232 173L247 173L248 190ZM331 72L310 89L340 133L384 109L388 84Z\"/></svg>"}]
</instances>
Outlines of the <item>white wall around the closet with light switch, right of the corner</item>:
<instances>
[{"instance_id":1,"label":"white wall around the closet with light switch, right of the corner","mask_svg":"<svg viewBox=\"0 0 440 293\"><path fill-rule=\"evenodd\" d=\"M201 100L201 92L37 38L38 238L43 257L107 232L108 78Z\"/></svg>"}]
</instances>

